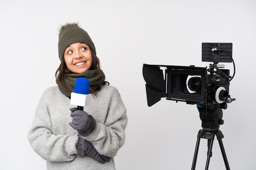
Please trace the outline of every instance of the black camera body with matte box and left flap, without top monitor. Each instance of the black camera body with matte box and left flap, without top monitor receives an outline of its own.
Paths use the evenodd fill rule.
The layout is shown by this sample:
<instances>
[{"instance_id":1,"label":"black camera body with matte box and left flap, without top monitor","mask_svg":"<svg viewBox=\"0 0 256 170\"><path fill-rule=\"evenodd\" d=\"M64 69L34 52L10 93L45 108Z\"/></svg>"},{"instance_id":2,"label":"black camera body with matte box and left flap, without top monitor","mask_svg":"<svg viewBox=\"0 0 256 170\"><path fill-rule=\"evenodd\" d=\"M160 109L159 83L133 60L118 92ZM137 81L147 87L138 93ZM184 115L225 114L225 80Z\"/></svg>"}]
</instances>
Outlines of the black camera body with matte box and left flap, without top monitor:
<instances>
[{"instance_id":1,"label":"black camera body with matte box and left flap, without top monitor","mask_svg":"<svg viewBox=\"0 0 256 170\"><path fill-rule=\"evenodd\" d=\"M165 67L165 79L163 70ZM229 76L229 70L221 69ZM229 83L219 74L207 73L207 68L177 65L143 66L148 106L165 97L187 104L222 104L229 96Z\"/></svg>"}]
</instances>

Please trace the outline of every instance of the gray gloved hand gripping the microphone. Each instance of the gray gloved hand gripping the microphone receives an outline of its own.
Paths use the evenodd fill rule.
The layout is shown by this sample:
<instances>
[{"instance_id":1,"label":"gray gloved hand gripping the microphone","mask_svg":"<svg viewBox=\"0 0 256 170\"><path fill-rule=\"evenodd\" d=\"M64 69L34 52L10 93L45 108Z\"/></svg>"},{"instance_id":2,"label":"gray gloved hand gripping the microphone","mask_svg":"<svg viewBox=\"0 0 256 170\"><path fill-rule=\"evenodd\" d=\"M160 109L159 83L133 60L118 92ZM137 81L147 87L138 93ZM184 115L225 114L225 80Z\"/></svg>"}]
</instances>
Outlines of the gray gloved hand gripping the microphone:
<instances>
[{"instance_id":1,"label":"gray gloved hand gripping the microphone","mask_svg":"<svg viewBox=\"0 0 256 170\"><path fill-rule=\"evenodd\" d=\"M75 107L70 108L70 111L70 116L73 118L70 126L84 137L90 135L96 126L96 120L85 111L77 110Z\"/></svg>"}]
</instances>

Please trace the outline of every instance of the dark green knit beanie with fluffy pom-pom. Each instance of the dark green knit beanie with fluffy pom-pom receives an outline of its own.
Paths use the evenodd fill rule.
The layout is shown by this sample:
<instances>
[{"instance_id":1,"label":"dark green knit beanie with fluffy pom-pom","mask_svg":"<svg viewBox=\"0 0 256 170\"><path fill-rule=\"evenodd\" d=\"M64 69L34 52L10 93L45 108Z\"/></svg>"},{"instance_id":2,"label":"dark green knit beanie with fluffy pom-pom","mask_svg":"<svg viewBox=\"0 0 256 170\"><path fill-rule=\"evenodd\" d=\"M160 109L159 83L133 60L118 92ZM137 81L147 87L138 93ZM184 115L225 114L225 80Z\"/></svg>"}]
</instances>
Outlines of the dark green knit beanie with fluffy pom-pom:
<instances>
[{"instance_id":1,"label":"dark green knit beanie with fluffy pom-pom","mask_svg":"<svg viewBox=\"0 0 256 170\"><path fill-rule=\"evenodd\" d=\"M58 57L62 61L64 52L70 44L81 42L89 46L89 48L96 54L95 46L88 33L80 28L77 23L67 23L61 26L58 35Z\"/></svg>"}]
</instances>

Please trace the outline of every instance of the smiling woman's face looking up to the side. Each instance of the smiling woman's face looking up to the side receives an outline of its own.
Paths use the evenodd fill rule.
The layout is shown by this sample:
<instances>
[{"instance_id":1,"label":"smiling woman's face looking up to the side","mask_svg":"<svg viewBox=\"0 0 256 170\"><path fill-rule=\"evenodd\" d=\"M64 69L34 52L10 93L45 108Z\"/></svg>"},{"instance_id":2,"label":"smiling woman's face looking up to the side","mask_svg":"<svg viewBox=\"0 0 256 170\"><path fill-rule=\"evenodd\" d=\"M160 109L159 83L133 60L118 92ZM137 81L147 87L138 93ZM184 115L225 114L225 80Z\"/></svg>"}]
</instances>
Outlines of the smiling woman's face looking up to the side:
<instances>
[{"instance_id":1,"label":"smiling woman's face looking up to the side","mask_svg":"<svg viewBox=\"0 0 256 170\"><path fill-rule=\"evenodd\" d=\"M68 70L74 73L83 73L89 70L92 65L89 46L79 42L71 44L65 50L64 60Z\"/></svg>"}]
</instances>

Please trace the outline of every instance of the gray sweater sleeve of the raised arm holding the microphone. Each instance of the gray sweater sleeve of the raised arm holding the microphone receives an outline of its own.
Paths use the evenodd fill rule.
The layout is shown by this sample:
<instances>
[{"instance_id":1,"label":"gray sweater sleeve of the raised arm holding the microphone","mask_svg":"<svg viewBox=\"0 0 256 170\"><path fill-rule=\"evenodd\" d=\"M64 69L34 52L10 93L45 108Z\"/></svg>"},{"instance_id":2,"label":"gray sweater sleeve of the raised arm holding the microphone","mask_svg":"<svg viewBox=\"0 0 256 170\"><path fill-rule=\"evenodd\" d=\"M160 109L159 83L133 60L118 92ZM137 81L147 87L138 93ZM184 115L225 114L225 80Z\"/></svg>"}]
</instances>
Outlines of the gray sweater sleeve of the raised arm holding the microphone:
<instances>
[{"instance_id":1,"label":"gray sweater sleeve of the raised arm holding the microphone","mask_svg":"<svg viewBox=\"0 0 256 170\"><path fill-rule=\"evenodd\" d=\"M90 135L83 137L92 142L101 155L115 157L125 142L126 108L116 88L110 94L108 113L104 123L97 125Z\"/></svg>"}]
</instances>

